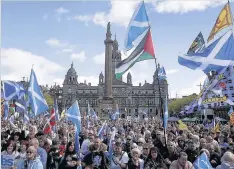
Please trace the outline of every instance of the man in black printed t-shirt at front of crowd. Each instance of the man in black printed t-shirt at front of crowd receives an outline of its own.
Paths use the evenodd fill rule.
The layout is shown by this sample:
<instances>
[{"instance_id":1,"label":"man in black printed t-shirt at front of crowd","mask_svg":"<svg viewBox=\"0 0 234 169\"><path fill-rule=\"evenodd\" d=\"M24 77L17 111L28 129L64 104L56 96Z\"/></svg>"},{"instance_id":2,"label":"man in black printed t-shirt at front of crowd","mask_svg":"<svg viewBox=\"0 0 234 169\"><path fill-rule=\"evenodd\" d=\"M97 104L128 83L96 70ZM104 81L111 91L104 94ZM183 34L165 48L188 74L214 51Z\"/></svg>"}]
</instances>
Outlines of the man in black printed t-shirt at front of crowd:
<instances>
[{"instance_id":1,"label":"man in black printed t-shirt at front of crowd","mask_svg":"<svg viewBox=\"0 0 234 169\"><path fill-rule=\"evenodd\" d=\"M84 156L83 166L93 166L93 169L108 169L108 159L103 151L100 151L101 140L94 139L94 150Z\"/></svg>"}]
</instances>

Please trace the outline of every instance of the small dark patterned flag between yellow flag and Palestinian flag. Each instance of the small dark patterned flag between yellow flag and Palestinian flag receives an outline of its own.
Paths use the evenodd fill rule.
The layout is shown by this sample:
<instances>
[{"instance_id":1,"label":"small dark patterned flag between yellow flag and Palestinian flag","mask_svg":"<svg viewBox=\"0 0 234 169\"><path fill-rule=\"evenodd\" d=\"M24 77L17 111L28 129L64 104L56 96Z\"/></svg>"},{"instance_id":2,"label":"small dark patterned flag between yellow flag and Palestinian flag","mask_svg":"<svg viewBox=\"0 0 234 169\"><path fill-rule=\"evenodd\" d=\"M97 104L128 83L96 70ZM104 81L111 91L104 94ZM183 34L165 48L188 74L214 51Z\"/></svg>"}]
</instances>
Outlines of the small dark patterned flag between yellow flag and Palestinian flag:
<instances>
[{"instance_id":1,"label":"small dark patterned flag between yellow flag and Palestinian flag","mask_svg":"<svg viewBox=\"0 0 234 169\"><path fill-rule=\"evenodd\" d=\"M193 41L192 45L190 46L187 54L194 54L199 53L204 48L205 40L203 38L202 33L200 32L196 39Z\"/></svg>"}]
</instances>

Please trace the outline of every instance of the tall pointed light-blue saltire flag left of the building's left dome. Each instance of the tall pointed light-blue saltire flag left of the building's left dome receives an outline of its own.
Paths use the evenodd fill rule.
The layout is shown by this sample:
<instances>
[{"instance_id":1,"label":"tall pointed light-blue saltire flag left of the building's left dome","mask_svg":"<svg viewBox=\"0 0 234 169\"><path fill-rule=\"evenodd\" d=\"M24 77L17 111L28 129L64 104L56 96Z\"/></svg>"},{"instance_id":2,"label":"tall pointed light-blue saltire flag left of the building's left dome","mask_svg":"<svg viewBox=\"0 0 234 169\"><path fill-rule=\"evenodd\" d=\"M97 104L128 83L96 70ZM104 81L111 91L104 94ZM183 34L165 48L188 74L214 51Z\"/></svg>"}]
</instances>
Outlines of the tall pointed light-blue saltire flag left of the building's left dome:
<instances>
[{"instance_id":1,"label":"tall pointed light-blue saltire flag left of the building's left dome","mask_svg":"<svg viewBox=\"0 0 234 169\"><path fill-rule=\"evenodd\" d=\"M41 88L38 85L37 77L34 70L31 70L29 87L28 87L29 103L32 106L32 111L35 116L47 111L49 109L46 100L41 92Z\"/></svg>"}]
</instances>

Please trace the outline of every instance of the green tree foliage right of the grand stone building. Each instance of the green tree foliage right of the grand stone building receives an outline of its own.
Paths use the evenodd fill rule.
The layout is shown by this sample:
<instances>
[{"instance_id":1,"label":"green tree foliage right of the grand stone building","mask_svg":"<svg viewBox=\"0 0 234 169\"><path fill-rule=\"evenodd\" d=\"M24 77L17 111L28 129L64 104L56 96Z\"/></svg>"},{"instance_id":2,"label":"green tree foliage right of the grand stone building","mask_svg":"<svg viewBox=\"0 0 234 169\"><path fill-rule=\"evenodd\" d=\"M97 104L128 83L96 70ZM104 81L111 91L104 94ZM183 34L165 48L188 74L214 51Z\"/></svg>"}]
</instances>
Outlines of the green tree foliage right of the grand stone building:
<instances>
[{"instance_id":1,"label":"green tree foliage right of the grand stone building","mask_svg":"<svg viewBox=\"0 0 234 169\"><path fill-rule=\"evenodd\" d=\"M184 98L175 99L168 105L168 111L173 114L178 113L185 105L188 105L196 97L197 97L197 94L194 93Z\"/></svg>"}]
</instances>

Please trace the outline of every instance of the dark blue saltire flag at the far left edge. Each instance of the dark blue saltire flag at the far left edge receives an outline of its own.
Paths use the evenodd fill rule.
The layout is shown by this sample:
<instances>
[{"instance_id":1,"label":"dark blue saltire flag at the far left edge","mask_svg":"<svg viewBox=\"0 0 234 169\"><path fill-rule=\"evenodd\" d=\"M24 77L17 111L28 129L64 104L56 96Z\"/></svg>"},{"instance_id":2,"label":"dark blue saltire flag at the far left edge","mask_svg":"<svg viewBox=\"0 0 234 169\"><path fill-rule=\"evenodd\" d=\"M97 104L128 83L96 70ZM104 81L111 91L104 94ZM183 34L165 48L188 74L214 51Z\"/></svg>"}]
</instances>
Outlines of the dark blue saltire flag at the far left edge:
<instances>
[{"instance_id":1,"label":"dark blue saltire flag at the far left edge","mask_svg":"<svg viewBox=\"0 0 234 169\"><path fill-rule=\"evenodd\" d=\"M21 83L3 80L2 81L3 98L4 100L18 100L21 97L21 92L24 91Z\"/></svg>"}]
</instances>

